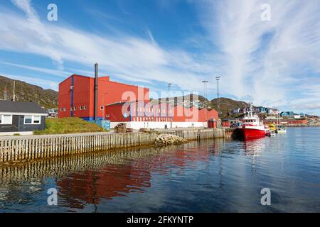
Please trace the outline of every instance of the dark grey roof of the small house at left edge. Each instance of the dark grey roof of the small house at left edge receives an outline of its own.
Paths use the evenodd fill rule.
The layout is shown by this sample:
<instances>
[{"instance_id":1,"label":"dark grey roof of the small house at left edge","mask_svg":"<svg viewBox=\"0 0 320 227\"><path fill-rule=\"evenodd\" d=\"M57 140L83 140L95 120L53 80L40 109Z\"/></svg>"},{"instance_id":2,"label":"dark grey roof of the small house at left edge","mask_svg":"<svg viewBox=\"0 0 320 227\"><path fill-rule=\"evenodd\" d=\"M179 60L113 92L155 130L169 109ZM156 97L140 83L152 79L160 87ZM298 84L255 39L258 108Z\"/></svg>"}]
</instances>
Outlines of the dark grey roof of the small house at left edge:
<instances>
[{"instance_id":1,"label":"dark grey roof of the small house at left edge","mask_svg":"<svg viewBox=\"0 0 320 227\"><path fill-rule=\"evenodd\" d=\"M35 102L7 101L0 100L0 112L7 113L30 113L30 114L46 114Z\"/></svg>"}]
</instances>

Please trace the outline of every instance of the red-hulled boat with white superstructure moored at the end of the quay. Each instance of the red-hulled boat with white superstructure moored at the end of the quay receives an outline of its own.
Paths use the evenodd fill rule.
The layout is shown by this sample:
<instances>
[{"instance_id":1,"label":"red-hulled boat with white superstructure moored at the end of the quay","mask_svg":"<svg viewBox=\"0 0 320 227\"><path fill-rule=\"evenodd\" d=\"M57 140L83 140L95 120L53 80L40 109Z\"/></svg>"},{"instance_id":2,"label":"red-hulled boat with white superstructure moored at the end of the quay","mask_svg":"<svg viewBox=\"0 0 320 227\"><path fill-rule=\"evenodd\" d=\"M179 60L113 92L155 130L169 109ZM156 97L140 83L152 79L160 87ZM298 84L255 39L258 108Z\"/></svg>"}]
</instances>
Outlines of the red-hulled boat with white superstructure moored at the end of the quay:
<instances>
[{"instance_id":1,"label":"red-hulled boat with white superstructure moored at the end of the quay","mask_svg":"<svg viewBox=\"0 0 320 227\"><path fill-rule=\"evenodd\" d=\"M247 111L245 117L242 119L242 127L239 129L240 138L262 138L266 134L266 128L259 116L252 111L252 105L250 104L250 111Z\"/></svg>"}]
</instances>

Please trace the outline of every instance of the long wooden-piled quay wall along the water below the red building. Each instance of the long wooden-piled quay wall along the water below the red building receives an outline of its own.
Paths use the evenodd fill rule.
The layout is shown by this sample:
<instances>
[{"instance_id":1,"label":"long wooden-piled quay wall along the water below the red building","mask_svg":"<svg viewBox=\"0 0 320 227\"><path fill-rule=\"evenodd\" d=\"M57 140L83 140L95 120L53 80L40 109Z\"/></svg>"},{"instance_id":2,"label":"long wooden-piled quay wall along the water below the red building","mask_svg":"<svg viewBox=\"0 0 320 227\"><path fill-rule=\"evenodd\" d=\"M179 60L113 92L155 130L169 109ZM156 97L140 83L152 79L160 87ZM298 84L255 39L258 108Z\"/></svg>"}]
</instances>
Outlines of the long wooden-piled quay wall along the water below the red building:
<instances>
[{"instance_id":1,"label":"long wooden-piled quay wall along the water below the red building","mask_svg":"<svg viewBox=\"0 0 320 227\"><path fill-rule=\"evenodd\" d=\"M0 137L0 164L41 158L79 155L101 150L153 145L161 133L186 140L229 138L233 128L185 129L148 133L80 133L63 135L20 135Z\"/></svg>"}]
</instances>

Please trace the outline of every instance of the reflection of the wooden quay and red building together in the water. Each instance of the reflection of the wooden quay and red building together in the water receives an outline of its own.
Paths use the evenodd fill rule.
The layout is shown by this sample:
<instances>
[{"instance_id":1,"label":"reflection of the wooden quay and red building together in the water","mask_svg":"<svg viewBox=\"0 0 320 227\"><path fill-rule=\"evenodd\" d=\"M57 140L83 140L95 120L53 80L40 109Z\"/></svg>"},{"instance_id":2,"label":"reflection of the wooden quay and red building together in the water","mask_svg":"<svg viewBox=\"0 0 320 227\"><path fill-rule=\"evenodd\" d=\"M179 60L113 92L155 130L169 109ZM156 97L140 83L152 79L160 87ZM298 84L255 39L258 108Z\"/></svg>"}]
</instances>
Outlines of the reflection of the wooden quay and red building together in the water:
<instances>
[{"instance_id":1,"label":"reflection of the wooden quay and red building together in the water","mask_svg":"<svg viewBox=\"0 0 320 227\"><path fill-rule=\"evenodd\" d=\"M210 152L219 155L223 143L205 140L166 148L127 148L0 167L0 201L29 201L30 195L45 191L45 179L53 178L59 205L83 209L102 199L143 193L151 187L151 172L168 175L172 167L208 162Z\"/></svg>"}]
</instances>

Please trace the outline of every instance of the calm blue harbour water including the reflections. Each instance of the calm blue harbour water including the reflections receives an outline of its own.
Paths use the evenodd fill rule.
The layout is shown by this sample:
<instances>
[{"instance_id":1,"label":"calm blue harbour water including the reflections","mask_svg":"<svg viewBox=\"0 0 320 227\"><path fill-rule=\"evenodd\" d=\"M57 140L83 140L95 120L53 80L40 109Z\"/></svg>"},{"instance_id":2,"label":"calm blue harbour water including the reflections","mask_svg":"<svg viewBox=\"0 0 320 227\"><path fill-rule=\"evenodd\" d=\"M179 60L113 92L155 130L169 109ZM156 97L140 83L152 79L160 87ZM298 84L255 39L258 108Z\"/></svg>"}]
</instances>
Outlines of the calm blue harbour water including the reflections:
<instances>
[{"instance_id":1,"label":"calm blue harbour water including the reflections","mask_svg":"<svg viewBox=\"0 0 320 227\"><path fill-rule=\"evenodd\" d=\"M0 177L1 212L319 212L320 128L41 160Z\"/></svg>"}]
</instances>

